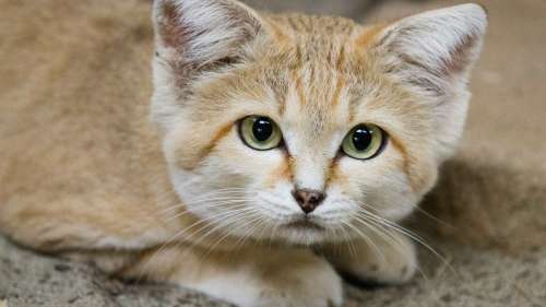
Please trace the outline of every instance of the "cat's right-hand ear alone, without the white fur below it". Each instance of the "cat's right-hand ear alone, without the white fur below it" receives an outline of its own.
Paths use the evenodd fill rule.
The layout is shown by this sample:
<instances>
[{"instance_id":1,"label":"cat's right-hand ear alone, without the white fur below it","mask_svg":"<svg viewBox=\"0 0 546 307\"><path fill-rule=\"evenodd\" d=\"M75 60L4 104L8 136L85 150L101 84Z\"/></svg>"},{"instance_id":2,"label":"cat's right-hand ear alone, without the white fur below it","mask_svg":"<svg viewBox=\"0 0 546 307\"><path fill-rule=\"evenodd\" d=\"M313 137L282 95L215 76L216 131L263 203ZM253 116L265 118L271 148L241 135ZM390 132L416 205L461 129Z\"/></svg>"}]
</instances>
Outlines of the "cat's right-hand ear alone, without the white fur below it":
<instances>
[{"instance_id":1,"label":"cat's right-hand ear alone, without the white fur below it","mask_svg":"<svg viewBox=\"0 0 546 307\"><path fill-rule=\"evenodd\" d=\"M487 26L478 4L462 4L403 19L382 31L380 50L395 55L391 70L430 94L446 94L465 79L477 59Z\"/></svg>"}]
</instances>

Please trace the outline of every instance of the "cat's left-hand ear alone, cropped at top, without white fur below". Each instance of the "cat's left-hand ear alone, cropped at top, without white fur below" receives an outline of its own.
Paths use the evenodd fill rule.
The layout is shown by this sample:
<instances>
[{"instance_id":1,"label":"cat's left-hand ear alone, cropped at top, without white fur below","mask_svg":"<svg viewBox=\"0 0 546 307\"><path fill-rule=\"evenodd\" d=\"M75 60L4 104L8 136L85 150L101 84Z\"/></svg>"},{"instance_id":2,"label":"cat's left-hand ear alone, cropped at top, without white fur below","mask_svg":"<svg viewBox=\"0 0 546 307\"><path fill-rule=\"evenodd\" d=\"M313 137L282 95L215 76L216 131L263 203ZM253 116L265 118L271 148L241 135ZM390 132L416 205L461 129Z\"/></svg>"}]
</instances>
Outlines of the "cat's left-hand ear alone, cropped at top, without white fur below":
<instances>
[{"instance_id":1,"label":"cat's left-hand ear alone, cropped at top, without white fur below","mask_svg":"<svg viewBox=\"0 0 546 307\"><path fill-rule=\"evenodd\" d=\"M256 12L232 0L155 0L158 56L186 68L236 57L260 31Z\"/></svg>"}]
</instances>

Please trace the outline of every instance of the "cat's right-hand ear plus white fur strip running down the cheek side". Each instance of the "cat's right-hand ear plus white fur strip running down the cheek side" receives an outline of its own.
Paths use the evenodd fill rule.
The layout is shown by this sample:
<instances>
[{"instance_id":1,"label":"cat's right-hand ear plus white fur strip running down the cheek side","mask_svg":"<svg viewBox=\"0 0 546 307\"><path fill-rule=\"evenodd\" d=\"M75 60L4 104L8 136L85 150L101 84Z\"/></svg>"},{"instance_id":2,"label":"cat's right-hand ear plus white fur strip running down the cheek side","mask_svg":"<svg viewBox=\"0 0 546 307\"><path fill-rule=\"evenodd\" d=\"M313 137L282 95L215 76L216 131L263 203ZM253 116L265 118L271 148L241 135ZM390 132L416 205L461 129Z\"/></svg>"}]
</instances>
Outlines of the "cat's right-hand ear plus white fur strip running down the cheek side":
<instances>
[{"instance_id":1,"label":"cat's right-hand ear plus white fur strip running down the cheek side","mask_svg":"<svg viewBox=\"0 0 546 307\"><path fill-rule=\"evenodd\" d=\"M449 157L462 134L471 68L477 59L487 14L462 4L403 19L381 29L371 44L393 79L423 94L435 108L438 155Z\"/></svg>"}]
</instances>

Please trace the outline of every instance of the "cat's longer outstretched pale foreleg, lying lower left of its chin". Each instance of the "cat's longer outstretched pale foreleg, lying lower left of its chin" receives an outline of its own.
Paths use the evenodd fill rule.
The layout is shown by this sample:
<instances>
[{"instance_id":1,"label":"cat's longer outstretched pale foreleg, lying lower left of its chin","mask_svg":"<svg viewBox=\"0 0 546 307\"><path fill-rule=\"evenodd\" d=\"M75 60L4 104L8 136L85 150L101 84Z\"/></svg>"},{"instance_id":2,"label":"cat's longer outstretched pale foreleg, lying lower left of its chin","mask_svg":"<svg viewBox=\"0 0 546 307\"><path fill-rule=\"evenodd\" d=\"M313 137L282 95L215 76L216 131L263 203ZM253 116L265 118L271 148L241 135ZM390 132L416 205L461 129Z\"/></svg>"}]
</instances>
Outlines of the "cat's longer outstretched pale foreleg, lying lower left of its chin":
<instances>
[{"instance_id":1,"label":"cat's longer outstretched pale foreleg, lying lower left of its chin","mask_svg":"<svg viewBox=\"0 0 546 307\"><path fill-rule=\"evenodd\" d=\"M144 257L126 278L146 275L242 307L342 306L341 278L309 249L253 247L211 252L173 247Z\"/></svg>"}]
</instances>

